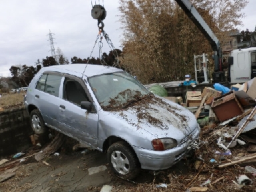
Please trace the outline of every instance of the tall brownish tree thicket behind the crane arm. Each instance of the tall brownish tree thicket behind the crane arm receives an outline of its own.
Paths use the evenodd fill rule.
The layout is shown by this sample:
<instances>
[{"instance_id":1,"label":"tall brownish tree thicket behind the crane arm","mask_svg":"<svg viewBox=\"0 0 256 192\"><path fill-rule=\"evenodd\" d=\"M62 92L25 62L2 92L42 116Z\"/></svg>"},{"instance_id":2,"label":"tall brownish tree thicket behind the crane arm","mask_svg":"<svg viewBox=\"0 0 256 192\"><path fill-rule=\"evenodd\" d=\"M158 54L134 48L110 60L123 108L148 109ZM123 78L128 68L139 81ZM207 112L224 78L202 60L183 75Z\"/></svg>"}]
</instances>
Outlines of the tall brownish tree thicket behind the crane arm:
<instances>
[{"instance_id":1,"label":"tall brownish tree thicket behind the crane arm","mask_svg":"<svg viewBox=\"0 0 256 192\"><path fill-rule=\"evenodd\" d=\"M192 3L220 38L220 31L241 25L247 0ZM119 11L124 37L122 67L143 83L182 79L185 73L195 73L194 54L212 55L207 39L174 1L120 0ZM213 68L213 62L209 66Z\"/></svg>"}]
</instances>

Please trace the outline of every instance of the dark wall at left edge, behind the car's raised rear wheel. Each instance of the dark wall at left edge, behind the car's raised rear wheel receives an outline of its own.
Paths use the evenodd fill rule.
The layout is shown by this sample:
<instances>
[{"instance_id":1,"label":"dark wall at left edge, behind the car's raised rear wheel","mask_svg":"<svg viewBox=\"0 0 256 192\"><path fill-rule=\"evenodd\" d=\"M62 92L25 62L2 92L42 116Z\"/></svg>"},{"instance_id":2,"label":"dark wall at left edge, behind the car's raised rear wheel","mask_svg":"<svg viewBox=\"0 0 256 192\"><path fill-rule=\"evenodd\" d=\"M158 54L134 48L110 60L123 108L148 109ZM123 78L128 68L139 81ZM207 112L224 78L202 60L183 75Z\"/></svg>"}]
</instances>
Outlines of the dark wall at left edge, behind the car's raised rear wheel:
<instances>
[{"instance_id":1,"label":"dark wall at left edge, behind the car's raised rear wheel","mask_svg":"<svg viewBox=\"0 0 256 192\"><path fill-rule=\"evenodd\" d=\"M0 112L0 159L32 146L33 130L25 107Z\"/></svg>"}]
</instances>

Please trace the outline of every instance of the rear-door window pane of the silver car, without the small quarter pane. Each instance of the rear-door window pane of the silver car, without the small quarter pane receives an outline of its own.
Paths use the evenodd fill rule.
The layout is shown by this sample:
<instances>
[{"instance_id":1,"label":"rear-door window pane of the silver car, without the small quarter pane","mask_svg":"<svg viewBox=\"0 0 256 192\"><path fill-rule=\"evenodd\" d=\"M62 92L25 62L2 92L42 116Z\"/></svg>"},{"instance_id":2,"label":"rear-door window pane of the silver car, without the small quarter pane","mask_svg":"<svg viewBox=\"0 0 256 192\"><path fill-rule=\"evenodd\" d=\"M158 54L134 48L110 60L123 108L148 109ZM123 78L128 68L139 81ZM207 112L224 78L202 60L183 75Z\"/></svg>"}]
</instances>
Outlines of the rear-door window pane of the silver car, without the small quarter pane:
<instances>
[{"instance_id":1,"label":"rear-door window pane of the silver car, without the small quarter pane","mask_svg":"<svg viewBox=\"0 0 256 192\"><path fill-rule=\"evenodd\" d=\"M59 75L47 75L45 83L45 92L59 97L59 85L61 85L62 77Z\"/></svg>"}]
</instances>

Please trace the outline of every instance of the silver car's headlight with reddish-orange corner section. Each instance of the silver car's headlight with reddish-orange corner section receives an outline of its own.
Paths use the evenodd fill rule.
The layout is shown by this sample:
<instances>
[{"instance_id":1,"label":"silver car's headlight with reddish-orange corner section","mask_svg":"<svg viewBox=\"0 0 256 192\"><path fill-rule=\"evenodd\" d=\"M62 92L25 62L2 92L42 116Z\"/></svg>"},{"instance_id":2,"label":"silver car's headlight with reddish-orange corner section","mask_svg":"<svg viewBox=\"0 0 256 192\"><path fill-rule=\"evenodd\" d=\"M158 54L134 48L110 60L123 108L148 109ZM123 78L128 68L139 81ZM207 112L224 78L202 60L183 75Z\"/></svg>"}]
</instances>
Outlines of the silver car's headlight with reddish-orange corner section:
<instances>
[{"instance_id":1,"label":"silver car's headlight with reddish-orange corner section","mask_svg":"<svg viewBox=\"0 0 256 192\"><path fill-rule=\"evenodd\" d=\"M152 145L155 151L165 151L177 147L177 141L172 138L153 139Z\"/></svg>"}]
</instances>

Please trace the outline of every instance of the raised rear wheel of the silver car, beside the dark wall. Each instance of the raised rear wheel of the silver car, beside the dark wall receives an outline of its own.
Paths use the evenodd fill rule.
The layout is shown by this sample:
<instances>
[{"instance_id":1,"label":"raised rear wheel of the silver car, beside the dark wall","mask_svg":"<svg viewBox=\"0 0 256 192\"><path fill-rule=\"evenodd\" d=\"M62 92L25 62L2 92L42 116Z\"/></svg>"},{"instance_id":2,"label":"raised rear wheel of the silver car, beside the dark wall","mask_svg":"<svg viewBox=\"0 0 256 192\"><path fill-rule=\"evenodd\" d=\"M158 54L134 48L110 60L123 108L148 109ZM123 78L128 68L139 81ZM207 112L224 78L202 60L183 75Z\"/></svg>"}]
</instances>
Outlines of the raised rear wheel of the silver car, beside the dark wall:
<instances>
[{"instance_id":1,"label":"raised rear wheel of the silver car, beside the dark wall","mask_svg":"<svg viewBox=\"0 0 256 192\"><path fill-rule=\"evenodd\" d=\"M35 134L41 135L47 133L47 127L45 126L45 121L39 111L39 109L34 109L30 113L30 123Z\"/></svg>"}]
</instances>

